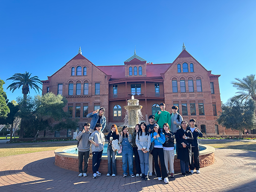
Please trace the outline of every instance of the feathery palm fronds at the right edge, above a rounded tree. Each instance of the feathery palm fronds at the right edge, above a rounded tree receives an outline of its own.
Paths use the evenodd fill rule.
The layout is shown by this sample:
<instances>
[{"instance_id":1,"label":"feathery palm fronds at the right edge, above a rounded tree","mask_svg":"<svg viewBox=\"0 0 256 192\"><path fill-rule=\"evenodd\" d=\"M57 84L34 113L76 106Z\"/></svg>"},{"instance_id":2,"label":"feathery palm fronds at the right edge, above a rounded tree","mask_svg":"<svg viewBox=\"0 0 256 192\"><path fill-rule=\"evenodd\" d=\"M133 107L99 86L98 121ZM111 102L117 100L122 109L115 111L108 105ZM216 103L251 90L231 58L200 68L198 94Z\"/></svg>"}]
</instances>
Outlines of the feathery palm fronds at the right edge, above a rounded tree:
<instances>
[{"instance_id":1,"label":"feathery palm fronds at the right edge, above a rounded tree","mask_svg":"<svg viewBox=\"0 0 256 192\"><path fill-rule=\"evenodd\" d=\"M235 78L236 81L232 81L233 87L236 87L239 91L238 95L234 96L234 99L241 99L241 101L252 98L256 102L256 79L255 75L246 76L243 79Z\"/></svg>"}]
</instances>

